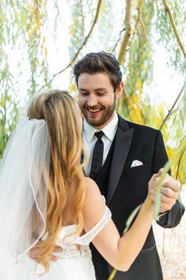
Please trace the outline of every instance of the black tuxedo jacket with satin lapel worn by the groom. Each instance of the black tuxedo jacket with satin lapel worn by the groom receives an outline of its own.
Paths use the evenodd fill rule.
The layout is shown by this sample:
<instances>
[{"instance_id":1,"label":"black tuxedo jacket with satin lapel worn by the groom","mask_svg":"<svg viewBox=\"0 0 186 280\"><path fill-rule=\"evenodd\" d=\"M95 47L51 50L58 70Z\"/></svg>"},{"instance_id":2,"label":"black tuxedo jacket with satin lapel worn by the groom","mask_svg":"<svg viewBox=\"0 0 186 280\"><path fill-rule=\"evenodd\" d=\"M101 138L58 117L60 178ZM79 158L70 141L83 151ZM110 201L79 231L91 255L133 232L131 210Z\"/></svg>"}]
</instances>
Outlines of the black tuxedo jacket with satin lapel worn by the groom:
<instances>
[{"instance_id":1,"label":"black tuxedo jacket with satin lapel worn by the groom","mask_svg":"<svg viewBox=\"0 0 186 280\"><path fill-rule=\"evenodd\" d=\"M120 235L125 228L129 214L144 202L148 194L148 181L168 161L162 134L158 130L137 125L119 116L115 135L113 156L110 159L110 174L106 195L106 204L112 212L112 218ZM134 160L143 165L131 167ZM173 228L180 223L185 209L176 202L171 211L157 223L163 228ZM92 258L96 269L96 279L106 280L113 267L103 260L92 247ZM155 244L152 228L143 249L131 265L128 272L117 272L114 279L120 280L162 280L162 269Z\"/></svg>"}]
</instances>

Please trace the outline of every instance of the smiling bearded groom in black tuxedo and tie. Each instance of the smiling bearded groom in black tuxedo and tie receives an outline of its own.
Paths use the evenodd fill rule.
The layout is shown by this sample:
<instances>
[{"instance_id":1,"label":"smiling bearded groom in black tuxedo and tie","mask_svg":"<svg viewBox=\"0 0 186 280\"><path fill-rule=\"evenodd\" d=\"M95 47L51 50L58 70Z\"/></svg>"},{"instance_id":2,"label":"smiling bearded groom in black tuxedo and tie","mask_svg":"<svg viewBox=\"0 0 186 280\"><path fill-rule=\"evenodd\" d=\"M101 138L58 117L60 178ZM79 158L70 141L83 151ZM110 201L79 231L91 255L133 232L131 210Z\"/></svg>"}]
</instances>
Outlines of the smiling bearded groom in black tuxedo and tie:
<instances>
[{"instance_id":1,"label":"smiling bearded groom in black tuxedo and tie","mask_svg":"<svg viewBox=\"0 0 186 280\"><path fill-rule=\"evenodd\" d=\"M113 221L122 235L127 218L148 194L152 174L168 161L162 134L151 127L124 120L115 113L115 102L124 85L120 64L114 55L89 53L75 65L74 75L78 103L84 116L85 174L94 179L106 197ZM177 199L178 184L167 185L157 219L163 228L174 228L180 223L185 209ZM96 279L108 279L113 267L93 245L92 258ZM152 228L129 271L117 272L114 279L163 279Z\"/></svg>"}]
</instances>

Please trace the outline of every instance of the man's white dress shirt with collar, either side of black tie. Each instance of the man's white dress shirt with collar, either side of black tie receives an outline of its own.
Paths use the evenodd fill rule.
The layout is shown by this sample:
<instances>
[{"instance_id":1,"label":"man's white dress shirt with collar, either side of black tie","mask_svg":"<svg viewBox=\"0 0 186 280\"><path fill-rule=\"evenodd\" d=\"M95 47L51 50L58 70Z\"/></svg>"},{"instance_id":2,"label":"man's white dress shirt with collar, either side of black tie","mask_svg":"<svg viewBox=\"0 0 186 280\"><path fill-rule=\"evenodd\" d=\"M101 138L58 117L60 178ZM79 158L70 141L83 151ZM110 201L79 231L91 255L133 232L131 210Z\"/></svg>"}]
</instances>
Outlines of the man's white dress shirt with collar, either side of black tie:
<instances>
[{"instance_id":1,"label":"man's white dress shirt with collar, either side of black tie","mask_svg":"<svg viewBox=\"0 0 186 280\"><path fill-rule=\"evenodd\" d=\"M106 157L108 155L108 151L110 150L110 146L112 145L113 139L115 137L115 133L117 131L118 126L118 116L117 113L115 113L115 116L112 120L110 120L110 123L108 123L105 127L102 128L102 132L104 133L103 137L101 138L103 140L103 162L102 166L106 160ZM94 127L92 127L87 121L84 119L83 121L83 143L85 148L85 174L87 176L90 175L90 169L92 165L92 155L94 151L94 146L97 141L97 137L94 135L95 132L98 132L99 130L96 130Z\"/></svg>"}]
</instances>

